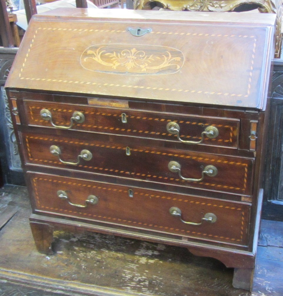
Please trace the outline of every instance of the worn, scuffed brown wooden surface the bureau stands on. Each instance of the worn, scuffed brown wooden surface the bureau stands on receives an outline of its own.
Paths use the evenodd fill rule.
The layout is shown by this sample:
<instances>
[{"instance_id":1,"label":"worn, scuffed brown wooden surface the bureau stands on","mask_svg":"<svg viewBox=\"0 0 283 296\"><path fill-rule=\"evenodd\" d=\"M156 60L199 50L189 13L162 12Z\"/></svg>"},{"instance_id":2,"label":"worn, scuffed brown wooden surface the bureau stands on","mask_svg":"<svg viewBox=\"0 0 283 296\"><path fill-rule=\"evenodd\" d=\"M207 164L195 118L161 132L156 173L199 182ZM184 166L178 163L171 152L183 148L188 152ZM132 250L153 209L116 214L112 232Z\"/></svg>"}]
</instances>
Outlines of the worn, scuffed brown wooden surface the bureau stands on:
<instances>
[{"instance_id":1,"label":"worn, scuffed brown wooden surface the bureau stands on","mask_svg":"<svg viewBox=\"0 0 283 296\"><path fill-rule=\"evenodd\" d=\"M28 292L31 296L283 295L268 294L268 289L277 293L272 284L255 286L253 293L235 289L233 269L218 260L194 256L185 248L134 239L57 231L57 254L46 256L36 251L33 242L26 189L0 189L0 205L5 203L19 210L0 231L0 296L30 295ZM265 280L262 270L256 272L257 278ZM9 287L14 294L5 294Z\"/></svg>"}]
</instances>

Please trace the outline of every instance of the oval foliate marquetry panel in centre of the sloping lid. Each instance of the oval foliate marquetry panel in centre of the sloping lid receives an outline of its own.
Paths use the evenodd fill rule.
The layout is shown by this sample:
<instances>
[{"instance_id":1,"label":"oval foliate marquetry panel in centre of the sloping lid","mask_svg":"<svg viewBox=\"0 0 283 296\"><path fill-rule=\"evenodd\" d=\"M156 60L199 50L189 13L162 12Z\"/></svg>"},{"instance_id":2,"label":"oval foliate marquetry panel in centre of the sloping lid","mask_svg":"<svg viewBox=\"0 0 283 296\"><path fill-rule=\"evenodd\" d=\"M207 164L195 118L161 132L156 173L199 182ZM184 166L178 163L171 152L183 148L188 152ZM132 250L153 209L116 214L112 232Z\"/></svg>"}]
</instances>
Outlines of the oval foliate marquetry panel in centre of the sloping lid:
<instances>
[{"instance_id":1,"label":"oval foliate marquetry panel in centre of the sloping lid","mask_svg":"<svg viewBox=\"0 0 283 296\"><path fill-rule=\"evenodd\" d=\"M127 49L127 44L97 44L81 55L87 70L126 75L172 74L183 64L183 53L166 46L128 45Z\"/></svg>"}]
</instances>

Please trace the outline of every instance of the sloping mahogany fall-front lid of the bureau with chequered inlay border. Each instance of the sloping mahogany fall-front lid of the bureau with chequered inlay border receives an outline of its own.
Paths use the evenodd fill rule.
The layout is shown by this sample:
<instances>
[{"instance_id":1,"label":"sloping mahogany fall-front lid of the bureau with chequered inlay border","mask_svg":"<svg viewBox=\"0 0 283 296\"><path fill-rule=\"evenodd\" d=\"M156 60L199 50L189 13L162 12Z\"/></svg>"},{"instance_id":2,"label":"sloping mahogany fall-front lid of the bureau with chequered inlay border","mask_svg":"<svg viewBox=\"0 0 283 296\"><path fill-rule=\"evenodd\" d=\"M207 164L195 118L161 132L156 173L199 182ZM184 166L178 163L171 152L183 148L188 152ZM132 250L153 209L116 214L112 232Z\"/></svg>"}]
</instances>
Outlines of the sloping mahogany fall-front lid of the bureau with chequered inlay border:
<instances>
[{"instance_id":1,"label":"sloping mahogany fall-front lid of the bureau with chequered inlay border","mask_svg":"<svg viewBox=\"0 0 283 296\"><path fill-rule=\"evenodd\" d=\"M179 15L170 13L171 20ZM207 21L200 14L195 23L172 20L166 26L151 11L140 11L139 20L127 11L120 20L96 9L93 17L87 9L64 14L61 22L50 14L31 20L7 87L265 109L273 55L270 16L260 15L268 25L255 27L247 25L248 16L229 26L225 14L210 26L197 24ZM151 32L136 37L127 31L138 27ZM54 46L58 40L66 45Z\"/></svg>"}]
</instances>

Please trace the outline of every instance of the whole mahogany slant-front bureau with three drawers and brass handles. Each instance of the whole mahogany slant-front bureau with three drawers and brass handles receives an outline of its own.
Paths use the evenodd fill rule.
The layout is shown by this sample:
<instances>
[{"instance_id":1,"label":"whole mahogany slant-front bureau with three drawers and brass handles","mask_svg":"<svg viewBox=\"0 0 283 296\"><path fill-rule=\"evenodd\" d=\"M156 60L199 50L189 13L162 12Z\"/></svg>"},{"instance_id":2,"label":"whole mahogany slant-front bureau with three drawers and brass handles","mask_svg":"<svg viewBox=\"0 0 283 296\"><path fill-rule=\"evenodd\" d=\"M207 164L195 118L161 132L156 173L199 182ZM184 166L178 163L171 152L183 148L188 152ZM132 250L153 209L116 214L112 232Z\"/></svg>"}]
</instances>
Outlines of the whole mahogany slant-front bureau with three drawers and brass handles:
<instances>
[{"instance_id":1,"label":"whole mahogany slant-front bureau with three drawers and brass handles","mask_svg":"<svg viewBox=\"0 0 283 296\"><path fill-rule=\"evenodd\" d=\"M97 231L255 263L271 14L58 9L30 22L6 89L40 252Z\"/></svg>"}]
</instances>

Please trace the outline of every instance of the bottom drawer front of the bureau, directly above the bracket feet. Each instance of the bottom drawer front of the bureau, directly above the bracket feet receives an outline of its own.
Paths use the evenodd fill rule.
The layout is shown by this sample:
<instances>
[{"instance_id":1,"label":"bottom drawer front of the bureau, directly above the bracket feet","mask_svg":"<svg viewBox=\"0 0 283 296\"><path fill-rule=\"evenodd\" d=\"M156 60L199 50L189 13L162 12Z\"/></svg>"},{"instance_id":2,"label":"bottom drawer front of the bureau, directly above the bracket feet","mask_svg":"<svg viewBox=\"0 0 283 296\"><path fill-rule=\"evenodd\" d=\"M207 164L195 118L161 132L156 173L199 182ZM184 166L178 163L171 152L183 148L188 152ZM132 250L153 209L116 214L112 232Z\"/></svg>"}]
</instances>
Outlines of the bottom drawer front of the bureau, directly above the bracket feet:
<instances>
[{"instance_id":1,"label":"bottom drawer front of the bureau, directly above the bracket feet","mask_svg":"<svg viewBox=\"0 0 283 296\"><path fill-rule=\"evenodd\" d=\"M183 237L247 244L250 216L250 206L247 204L77 178L35 173L28 175L36 210L39 211ZM62 192L64 194L59 197ZM86 202L91 197L95 197L95 204ZM180 209L181 218L186 222L200 223L207 213L215 215L216 221L189 225L170 214L172 207Z\"/></svg>"}]
</instances>

